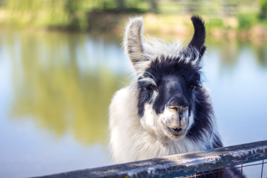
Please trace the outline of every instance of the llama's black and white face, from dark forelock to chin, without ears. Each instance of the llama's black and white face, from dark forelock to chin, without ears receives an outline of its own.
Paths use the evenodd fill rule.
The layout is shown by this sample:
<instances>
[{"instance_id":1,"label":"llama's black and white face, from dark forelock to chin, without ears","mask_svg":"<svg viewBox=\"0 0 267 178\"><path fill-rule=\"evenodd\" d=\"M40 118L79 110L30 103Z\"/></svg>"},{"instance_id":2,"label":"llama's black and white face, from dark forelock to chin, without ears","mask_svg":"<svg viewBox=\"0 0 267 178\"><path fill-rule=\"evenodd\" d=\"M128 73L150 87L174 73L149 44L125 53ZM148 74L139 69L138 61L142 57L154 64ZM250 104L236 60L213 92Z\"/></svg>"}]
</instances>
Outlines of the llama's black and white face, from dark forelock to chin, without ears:
<instances>
[{"instance_id":1,"label":"llama's black and white face, from dark forelock to chin, without ears","mask_svg":"<svg viewBox=\"0 0 267 178\"><path fill-rule=\"evenodd\" d=\"M200 88L198 69L179 57L151 61L138 79L138 115L145 129L171 139L186 135L194 122L195 95Z\"/></svg>"}]
</instances>

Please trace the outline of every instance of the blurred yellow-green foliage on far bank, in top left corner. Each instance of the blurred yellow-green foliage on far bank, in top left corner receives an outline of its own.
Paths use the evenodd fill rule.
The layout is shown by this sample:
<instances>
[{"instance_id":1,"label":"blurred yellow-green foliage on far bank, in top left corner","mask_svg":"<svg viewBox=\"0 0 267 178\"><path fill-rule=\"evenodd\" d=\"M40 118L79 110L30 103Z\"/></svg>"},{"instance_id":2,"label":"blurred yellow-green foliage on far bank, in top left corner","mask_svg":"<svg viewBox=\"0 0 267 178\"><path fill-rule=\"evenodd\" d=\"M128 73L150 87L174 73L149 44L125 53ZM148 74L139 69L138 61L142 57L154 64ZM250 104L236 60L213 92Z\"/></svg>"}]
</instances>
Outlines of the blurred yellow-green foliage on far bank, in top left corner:
<instances>
[{"instance_id":1,"label":"blurred yellow-green foliage on far bank, in top left corner","mask_svg":"<svg viewBox=\"0 0 267 178\"><path fill-rule=\"evenodd\" d=\"M8 23L87 28L84 0L6 0Z\"/></svg>"}]
</instances>

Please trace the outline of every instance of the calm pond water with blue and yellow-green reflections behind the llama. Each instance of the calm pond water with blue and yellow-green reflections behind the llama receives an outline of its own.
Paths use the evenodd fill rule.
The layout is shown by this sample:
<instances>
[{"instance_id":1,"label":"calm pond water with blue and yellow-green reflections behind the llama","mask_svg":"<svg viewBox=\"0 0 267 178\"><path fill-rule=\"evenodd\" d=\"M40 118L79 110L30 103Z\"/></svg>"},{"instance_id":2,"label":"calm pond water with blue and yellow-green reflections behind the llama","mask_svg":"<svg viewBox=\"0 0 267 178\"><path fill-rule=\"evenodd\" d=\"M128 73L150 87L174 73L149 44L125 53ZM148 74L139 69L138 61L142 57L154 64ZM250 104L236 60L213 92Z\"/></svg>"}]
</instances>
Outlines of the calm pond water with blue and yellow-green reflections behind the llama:
<instances>
[{"instance_id":1,"label":"calm pond water with blue and yellow-green reflections behind the llama","mask_svg":"<svg viewBox=\"0 0 267 178\"><path fill-rule=\"evenodd\" d=\"M0 177L112 164L108 106L132 71L120 40L0 32ZM267 43L208 40L207 46L203 72L224 146L266 140ZM261 174L261 166L243 170Z\"/></svg>"}]
</instances>

